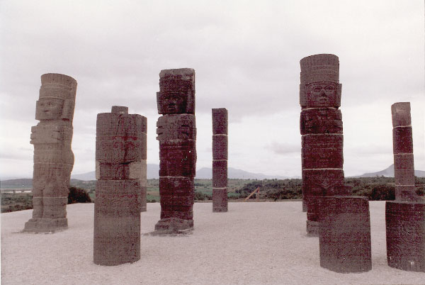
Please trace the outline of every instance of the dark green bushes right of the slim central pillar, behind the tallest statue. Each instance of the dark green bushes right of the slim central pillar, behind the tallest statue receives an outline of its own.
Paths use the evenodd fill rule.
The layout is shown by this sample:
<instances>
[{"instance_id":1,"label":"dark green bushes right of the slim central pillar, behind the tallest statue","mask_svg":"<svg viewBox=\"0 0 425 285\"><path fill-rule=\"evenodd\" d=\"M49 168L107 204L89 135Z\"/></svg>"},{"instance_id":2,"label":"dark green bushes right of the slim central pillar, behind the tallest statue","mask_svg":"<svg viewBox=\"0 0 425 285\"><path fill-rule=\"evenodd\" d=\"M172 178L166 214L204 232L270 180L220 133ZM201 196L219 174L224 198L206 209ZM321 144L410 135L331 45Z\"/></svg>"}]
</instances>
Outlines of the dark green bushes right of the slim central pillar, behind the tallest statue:
<instances>
[{"instance_id":1,"label":"dark green bushes right of the slim central pillar, behind the tallest statue","mask_svg":"<svg viewBox=\"0 0 425 285\"><path fill-rule=\"evenodd\" d=\"M395 200L394 177L346 178L345 184L353 196L366 196L370 201ZM425 178L415 177L416 194L425 195ZM265 179L251 181L237 189L239 198L246 198L260 187L261 199L302 199L302 179ZM251 196L255 199L255 195Z\"/></svg>"}]
</instances>

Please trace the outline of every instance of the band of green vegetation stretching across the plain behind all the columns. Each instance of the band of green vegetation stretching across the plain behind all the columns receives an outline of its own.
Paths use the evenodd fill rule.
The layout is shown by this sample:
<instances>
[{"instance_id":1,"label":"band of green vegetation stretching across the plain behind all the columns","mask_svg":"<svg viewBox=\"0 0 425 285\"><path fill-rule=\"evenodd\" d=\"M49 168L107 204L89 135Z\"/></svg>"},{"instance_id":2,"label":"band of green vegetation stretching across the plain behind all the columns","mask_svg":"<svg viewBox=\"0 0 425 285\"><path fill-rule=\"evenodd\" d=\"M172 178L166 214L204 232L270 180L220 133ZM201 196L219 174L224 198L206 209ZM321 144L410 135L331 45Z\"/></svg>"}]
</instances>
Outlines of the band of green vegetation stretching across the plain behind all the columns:
<instances>
[{"instance_id":1,"label":"band of green vegetation stretching across the plain behind all the columns","mask_svg":"<svg viewBox=\"0 0 425 285\"><path fill-rule=\"evenodd\" d=\"M32 194L21 193L23 189L28 189L23 186L31 186L31 182L27 180L28 179L21 179L21 181L16 181L15 188L12 186L9 187L8 189L13 191L13 193L1 193L1 213L33 208ZM351 188L353 196L366 196L370 201L395 199L394 178L346 178L345 182L346 186ZM72 179L71 184L69 201L73 201L73 203L94 201L96 196L96 180L82 181ZM425 199L425 178L415 177L415 184L416 194L423 196ZM279 201L302 199L301 179L229 179L227 183L227 196L229 199L245 199L257 187L260 187L261 200ZM251 196L251 199L255 198L256 195ZM212 180L195 179L195 200L208 201L211 199ZM159 202L159 179L147 180L147 202Z\"/></svg>"}]
</instances>

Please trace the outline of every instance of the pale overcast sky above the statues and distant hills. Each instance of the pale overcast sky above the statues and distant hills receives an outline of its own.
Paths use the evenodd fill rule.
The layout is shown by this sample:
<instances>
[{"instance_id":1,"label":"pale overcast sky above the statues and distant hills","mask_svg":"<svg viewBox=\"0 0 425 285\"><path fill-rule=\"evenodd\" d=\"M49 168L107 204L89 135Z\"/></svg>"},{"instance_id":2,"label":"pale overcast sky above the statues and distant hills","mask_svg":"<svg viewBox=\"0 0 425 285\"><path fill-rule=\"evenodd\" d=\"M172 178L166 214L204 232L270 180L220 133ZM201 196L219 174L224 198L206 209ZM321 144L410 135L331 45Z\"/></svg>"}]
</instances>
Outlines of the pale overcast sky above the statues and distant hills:
<instances>
[{"instance_id":1,"label":"pale overcast sky above the statues and distant hills","mask_svg":"<svg viewBox=\"0 0 425 285\"><path fill-rule=\"evenodd\" d=\"M32 177L41 74L78 82L73 174L94 171L97 113L147 117L159 163L161 69L196 70L197 168L211 108L229 112L229 167L301 174L300 60L339 57L346 176L393 163L391 105L410 101L425 170L424 1L0 1L0 177Z\"/></svg>"}]
</instances>

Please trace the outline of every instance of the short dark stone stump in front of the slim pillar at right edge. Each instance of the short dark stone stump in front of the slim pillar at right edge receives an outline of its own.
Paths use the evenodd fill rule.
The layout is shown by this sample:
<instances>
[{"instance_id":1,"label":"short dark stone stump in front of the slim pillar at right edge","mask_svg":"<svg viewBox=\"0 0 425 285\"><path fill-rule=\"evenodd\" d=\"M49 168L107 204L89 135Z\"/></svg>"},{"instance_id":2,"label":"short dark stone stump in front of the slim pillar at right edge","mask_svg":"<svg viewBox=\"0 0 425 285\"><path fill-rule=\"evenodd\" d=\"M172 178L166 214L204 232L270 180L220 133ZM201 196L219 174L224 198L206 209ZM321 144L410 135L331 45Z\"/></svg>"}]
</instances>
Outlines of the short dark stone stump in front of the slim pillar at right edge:
<instances>
[{"instance_id":1,"label":"short dark stone stump in front of the slim pillar at right edge","mask_svg":"<svg viewBox=\"0 0 425 285\"><path fill-rule=\"evenodd\" d=\"M425 272L425 203L387 201L385 223L388 265Z\"/></svg>"}]
</instances>

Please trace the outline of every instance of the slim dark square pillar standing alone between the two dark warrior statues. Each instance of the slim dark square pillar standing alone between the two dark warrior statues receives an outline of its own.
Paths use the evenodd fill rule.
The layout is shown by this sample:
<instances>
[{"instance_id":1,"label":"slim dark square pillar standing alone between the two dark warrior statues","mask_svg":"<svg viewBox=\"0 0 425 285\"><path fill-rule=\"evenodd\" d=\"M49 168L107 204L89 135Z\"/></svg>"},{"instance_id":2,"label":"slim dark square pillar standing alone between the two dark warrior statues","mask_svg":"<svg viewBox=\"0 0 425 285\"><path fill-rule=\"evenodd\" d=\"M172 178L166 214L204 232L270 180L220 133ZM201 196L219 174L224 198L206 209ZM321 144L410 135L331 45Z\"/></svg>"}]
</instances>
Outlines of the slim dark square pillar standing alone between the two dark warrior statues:
<instances>
[{"instance_id":1,"label":"slim dark square pillar standing alone between the two dark warrior statues","mask_svg":"<svg viewBox=\"0 0 425 285\"><path fill-rule=\"evenodd\" d=\"M212 212L227 212L227 109L212 109Z\"/></svg>"}]
</instances>

